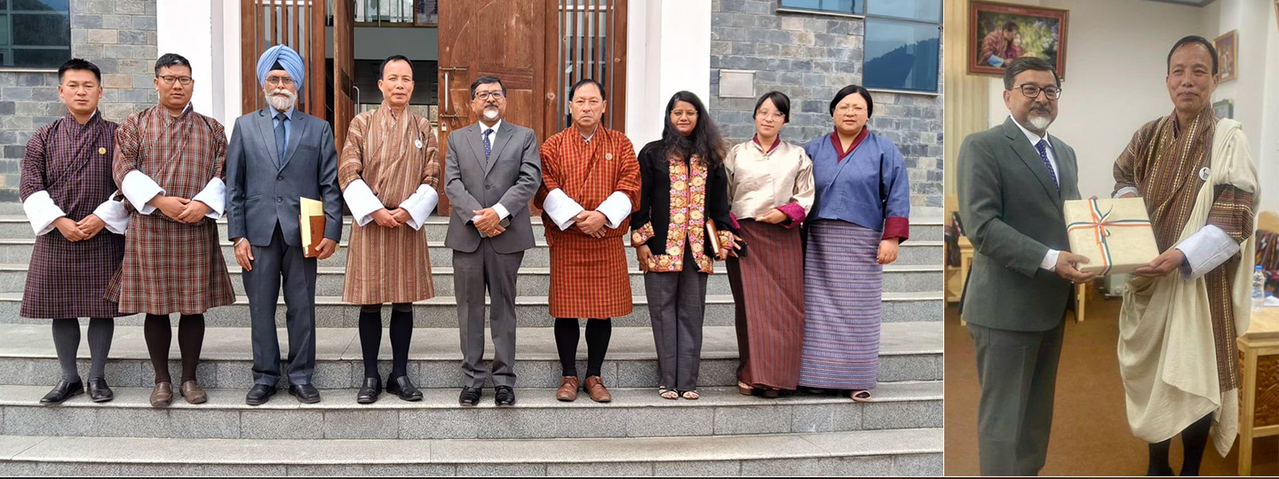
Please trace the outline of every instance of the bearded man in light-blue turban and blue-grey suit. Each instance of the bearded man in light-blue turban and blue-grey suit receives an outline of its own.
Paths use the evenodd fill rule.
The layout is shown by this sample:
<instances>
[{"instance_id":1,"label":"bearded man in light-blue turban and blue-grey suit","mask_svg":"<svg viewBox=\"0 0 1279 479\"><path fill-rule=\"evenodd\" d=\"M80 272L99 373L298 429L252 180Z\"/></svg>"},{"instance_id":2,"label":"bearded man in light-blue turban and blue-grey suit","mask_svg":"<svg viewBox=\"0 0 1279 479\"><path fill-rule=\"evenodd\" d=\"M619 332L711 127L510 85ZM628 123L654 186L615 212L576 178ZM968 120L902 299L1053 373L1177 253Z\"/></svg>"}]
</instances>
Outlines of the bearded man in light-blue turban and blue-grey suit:
<instances>
[{"instance_id":1,"label":"bearded man in light-blue turban and blue-grey suit","mask_svg":"<svg viewBox=\"0 0 1279 479\"><path fill-rule=\"evenodd\" d=\"M341 239L338 149L324 119L295 109L306 69L288 46L269 49L257 63L267 106L235 120L226 151L226 224L235 262L244 268L253 337L253 387L244 397L265 404L280 382L280 344L275 308L284 278L289 330L289 393L320 402L311 384L316 361L316 258L303 254L298 215L301 197L324 202L325 231L318 258Z\"/></svg>"}]
</instances>

